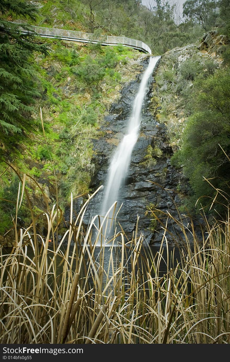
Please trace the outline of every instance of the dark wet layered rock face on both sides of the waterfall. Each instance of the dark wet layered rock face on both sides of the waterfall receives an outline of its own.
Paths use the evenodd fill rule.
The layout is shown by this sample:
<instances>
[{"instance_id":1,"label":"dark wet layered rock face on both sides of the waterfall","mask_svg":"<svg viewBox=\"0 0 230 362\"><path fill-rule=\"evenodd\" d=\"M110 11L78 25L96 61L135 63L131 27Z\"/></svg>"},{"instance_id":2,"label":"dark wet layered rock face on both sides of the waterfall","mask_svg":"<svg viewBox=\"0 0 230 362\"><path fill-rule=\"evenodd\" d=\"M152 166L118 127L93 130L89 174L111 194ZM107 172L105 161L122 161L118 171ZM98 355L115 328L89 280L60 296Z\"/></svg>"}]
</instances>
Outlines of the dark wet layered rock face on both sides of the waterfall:
<instances>
[{"instance_id":1,"label":"dark wet layered rock face on both sides of the waterfall","mask_svg":"<svg viewBox=\"0 0 230 362\"><path fill-rule=\"evenodd\" d=\"M147 64L144 63L143 71L146 66ZM91 182L93 190L96 190L100 185L106 184L109 161L118 143L126 134L131 107L139 83L140 76L137 77L136 81L132 81L122 89L120 101L111 105L110 113L105 117L104 124L100 128L103 136L93 140L93 150L95 152L92 159L92 163L95 164L95 173ZM153 83L154 79L152 78L151 84ZM178 203L179 198L175 190L182 177L182 172L178 172L170 164L172 150L167 143L165 126L160 125L150 113L151 91L150 85L143 106L139 138L132 152L128 175L120 190L118 206L122 202L123 206L118 214L118 221L127 235L130 236L135 230L137 215L139 215L139 233L143 232L146 241L154 244L162 240L163 231L160 224L152 222L151 215L146 213L147 205L154 205L156 209L165 213L170 210L176 215L177 211L174 202ZM152 148L157 147L162 156L155 156L156 164L148 168L142 163L145 160L149 145ZM164 190L164 188L168 190ZM89 203L87 214L84 217L85 224L91 221L92 216L100 213L102 194L103 190L100 190ZM173 225L170 226L170 223L168 225L173 230ZM173 241L170 234L167 237L169 242Z\"/></svg>"}]
</instances>

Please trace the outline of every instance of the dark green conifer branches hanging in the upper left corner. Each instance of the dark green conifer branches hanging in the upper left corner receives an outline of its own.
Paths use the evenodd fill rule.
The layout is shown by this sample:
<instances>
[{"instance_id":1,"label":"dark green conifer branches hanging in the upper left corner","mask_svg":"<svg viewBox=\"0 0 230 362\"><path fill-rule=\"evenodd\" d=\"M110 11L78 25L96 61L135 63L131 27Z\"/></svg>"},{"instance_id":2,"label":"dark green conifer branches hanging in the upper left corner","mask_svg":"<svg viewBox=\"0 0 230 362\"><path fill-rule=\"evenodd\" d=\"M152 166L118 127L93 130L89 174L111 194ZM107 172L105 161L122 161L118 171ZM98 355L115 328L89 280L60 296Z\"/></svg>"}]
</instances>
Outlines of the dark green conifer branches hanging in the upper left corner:
<instances>
[{"instance_id":1,"label":"dark green conifer branches hanging in the upper left corner","mask_svg":"<svg viewBox=\"0 0 230 362\"><path fill-rule=\"evenodd\" d=\"M5 144L9 135L26 128L34 98L39 97L32 54L47 52L44 45L35 43L29 25L22 24L24 31L18 32L8 19L20 16L34 20L35 14L36 8L27 1L0 2L0 129Z\"/></svg>"}]
</instances>

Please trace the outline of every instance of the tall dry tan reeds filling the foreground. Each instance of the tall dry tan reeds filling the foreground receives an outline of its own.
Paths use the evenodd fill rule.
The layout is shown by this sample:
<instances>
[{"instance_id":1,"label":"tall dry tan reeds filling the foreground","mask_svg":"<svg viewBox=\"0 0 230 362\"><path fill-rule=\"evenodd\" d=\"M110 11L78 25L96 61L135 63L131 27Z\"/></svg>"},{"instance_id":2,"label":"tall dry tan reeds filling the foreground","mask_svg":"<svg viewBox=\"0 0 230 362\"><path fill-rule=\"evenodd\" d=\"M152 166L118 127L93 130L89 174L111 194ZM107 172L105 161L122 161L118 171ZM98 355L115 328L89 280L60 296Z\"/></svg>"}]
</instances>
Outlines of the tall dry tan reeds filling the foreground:
<instances>
[{"instance_id":1,"label":"tall dry tan reeds filling the foreground","mask_svg":"<svg viewBox=\"0 0 230 362\"><path fill-rule=\"evenodd\" d=\"M59 245L49 242L57 239L56 206L49 210L47 205L46 238L36 230L30 202L32 223L18 228L23 194L29 201L25 177L20 188L14 247L0 248L1 343L229 343L229 215L212 226L206 220L202 238L191 220L191 246L188 226L168 214L184 238L173 263L167 227L154 255L138 235L138 220L130 240L115 232L110 246L99 250L92 240L96 217L87 230L83 225L93 195L75 218L71 198L70 227ZM103 240L106 219L99 225L96 241Z\"/></svg>"}]
</instances>

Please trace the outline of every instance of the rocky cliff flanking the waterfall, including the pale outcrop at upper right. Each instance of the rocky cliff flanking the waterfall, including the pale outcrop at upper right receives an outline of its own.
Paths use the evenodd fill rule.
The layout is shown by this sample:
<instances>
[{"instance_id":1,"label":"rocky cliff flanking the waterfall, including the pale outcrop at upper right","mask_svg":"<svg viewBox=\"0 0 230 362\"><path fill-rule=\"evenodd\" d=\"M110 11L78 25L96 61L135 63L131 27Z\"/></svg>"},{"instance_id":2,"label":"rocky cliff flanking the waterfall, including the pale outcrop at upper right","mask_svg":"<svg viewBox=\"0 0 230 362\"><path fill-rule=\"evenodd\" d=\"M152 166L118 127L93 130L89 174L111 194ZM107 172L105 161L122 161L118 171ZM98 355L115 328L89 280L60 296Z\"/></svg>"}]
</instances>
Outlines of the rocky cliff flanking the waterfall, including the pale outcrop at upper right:
<instances>
[{"instance_id":1,"label":"rocky cliff flanking the waterfall, including the pale outcrop at upper right","mask_svg":"<svg viewBox=\"0 0 230 362\"><path fill-rule=\"evenodd\" d=\"M221 53L224 46L225 37L210 32L204 34L198 46L192 44L175 48L164 54L160 60L159 67L151 79L143 107L140 135L131 156L128 177L118 200L118 205L123 202L118 221L127 235L131 235L135 230L139 215L139 232L144 232L146 242L156 244L162 240L162 226L166 221L168 243L175 243L171 232L180 240L180 227L171 218L168 219L168 211L173 217L179 217L177 207L183 203L183 197L188 193L188 180L183 176L183 168L176 169L171 165L171 156L178 147L180 132L183 132L186 122L187 97L176 89L176 82L179 82L181 64L188 59L194 58L194 61L203 66L204 71L207 62L211 60L214 68L217 68L222 61ZM105 117L100 128L101 136L93 142L93 190L105 185L110 157L125 134L131 105L139 87L141 74L147 66L148 57L142 56L139 61L141 72L135 81L125 85L120 92L120 99L110 106L109 115ZM169 70L175 72L175 84L171 84L170 89L163 79L163 73ZM192 89L192 86L192 80L189 80L188 89ZM99 213L102 193L103 190L89 205L85 224L89 223L93 215ZM159 220L152 215L151 211L154 210ZM188 230L191 229L187 218L183 216L181 221Z\"/></svg>"}]
</instances>

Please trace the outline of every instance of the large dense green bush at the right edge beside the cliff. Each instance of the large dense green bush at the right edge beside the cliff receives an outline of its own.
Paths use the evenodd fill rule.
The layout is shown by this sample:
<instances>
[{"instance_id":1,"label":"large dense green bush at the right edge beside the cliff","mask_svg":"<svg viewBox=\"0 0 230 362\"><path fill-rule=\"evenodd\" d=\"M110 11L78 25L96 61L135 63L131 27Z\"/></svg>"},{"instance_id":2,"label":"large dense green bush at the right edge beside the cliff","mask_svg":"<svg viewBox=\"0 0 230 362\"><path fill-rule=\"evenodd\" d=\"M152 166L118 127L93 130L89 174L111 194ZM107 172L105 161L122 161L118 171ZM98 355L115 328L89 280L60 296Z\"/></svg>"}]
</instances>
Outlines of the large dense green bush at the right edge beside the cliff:
<instances>
[{"instance_id":1,"label":"large dense green bush at the right edge beside the cliff","mask_svg":"<svg viewBox=\"0 0 230 362\"><path fill-rule=\"evenodd\" d=\"M206 196L201 201L206 206L216 195L214 188L229 193L230 162L221 147L229 156L230 72L219 70L206 78L197 77L188 110L191 116L182 134L181 150L172 162L184 165L194 203ZM210 183L204 181L204 177L209 178ZM216 208L223 212L226 200L220 194L217 200Z\"/></svg>"}]
</instances>

